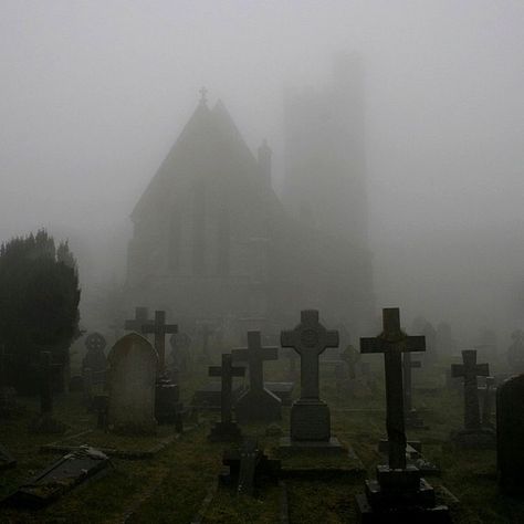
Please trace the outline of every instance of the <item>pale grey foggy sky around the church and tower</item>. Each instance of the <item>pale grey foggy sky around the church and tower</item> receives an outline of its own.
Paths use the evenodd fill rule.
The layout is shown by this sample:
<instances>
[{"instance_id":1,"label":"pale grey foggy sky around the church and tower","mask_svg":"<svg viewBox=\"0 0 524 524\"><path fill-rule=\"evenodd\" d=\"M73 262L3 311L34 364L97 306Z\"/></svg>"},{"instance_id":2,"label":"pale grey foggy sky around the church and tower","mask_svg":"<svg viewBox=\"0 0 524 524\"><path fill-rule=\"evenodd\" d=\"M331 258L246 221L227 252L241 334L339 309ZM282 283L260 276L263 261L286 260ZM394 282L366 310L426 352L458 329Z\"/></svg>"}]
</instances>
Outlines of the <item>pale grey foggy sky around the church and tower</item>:
<instances>
[{"instance_id":1,"label":"pale grey foggy sky around the church and tower","mask_svg":"<svg viewBox=\"0 0 524 524\"><path fill-rule=\"evenodd\" d=\"M0 3L0 239L69 238L88 295L125 277L129 214L199 90L284 179L283 99L334 57L364 74L377 308L522 327L524 3Z\"/></svg>"}]
</instances>

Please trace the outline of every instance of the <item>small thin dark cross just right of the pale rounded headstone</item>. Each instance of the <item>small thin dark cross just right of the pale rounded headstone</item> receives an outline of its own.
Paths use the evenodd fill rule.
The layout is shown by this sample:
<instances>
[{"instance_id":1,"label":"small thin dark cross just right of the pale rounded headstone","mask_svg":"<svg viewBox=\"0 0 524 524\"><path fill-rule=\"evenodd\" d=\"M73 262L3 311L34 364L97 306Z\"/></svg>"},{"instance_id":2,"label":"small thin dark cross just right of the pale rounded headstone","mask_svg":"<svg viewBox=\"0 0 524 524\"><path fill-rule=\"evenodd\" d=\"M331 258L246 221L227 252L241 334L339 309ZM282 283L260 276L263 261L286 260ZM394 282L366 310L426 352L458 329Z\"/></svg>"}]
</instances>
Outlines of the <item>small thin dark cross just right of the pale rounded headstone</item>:
<instances>
[{"instance_id":1,"label":"small thin dark cross just right of the pale rounded headstone","mask_svg":"<svg viewBox=\"0 0 524 524\"><path fill-rule=\"evenodd\" d=\"M211 366L209 368L210 377L220 377L222 387L220 391L220 422L217 422L208 436L211 442L229 442L240 440L242 433L240 428L232 418L232 385L233 377L243 377L245 369L243 367L234 367L231 355L222 355L222 366Z\"/></svg>"}]
</instances>

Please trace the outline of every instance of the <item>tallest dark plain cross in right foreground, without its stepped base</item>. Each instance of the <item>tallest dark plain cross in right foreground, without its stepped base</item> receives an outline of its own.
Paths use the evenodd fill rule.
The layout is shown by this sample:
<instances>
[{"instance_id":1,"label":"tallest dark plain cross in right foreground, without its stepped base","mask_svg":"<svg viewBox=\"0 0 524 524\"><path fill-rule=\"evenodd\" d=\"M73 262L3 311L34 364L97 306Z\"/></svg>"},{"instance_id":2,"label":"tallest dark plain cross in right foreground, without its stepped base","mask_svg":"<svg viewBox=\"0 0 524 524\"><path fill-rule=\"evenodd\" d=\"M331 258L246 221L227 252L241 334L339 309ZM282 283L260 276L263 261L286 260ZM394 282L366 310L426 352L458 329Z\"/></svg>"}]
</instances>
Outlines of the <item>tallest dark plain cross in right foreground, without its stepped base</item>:
<instances>
[{"instance_id":1,"label":"tallest dark plain cross in right foreground, without its stepped base","mask_svg":"<svg viewBox=\"0 0 524 524\"><path fill-rule=\"evenodd\" d=\"M404 413L401 353L425 352L423 336L408 336L400 328L398 307L382 310L382 333L376 338L360 338L360 353L384 353L386 371L386 428L389 442L389 468L406 469L406 429Z\"/></svg>"}]
</instances>

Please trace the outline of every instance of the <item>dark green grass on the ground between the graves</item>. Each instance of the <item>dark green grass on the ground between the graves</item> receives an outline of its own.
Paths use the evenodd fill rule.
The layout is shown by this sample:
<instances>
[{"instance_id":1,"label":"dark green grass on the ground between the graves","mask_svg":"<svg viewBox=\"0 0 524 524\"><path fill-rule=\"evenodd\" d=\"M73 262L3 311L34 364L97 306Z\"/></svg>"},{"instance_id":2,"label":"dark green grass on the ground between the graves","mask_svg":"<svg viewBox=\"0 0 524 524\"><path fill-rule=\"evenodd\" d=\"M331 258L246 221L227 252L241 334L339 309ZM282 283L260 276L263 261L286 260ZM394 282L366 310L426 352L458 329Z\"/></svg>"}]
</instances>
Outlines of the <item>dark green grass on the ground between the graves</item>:
<instances>
[{"instance_id":1,"label":"dark green grass on the ground between the graves","mask_svg":"<svg viewBox=\"0 0 524 524\"><path fill-rule=\"evenodd\" d=\"M422 371L416 371L422 373ZM434 373L434 371L433 371ZM268 374L269 375L269 374ZM277 374L271 374L277 377ZM434 377L433 377L434 378ZM203 373L193 375L181 384L185 402L191 392L206 381ZM437 381L437 380L436 380ZM332 407L333 433L348 443L358 454L368 476L374 475L376 464L382 461L377 442L385 437L384 390L381 376L376 387L361 398L344 398L337 392L327 373L323 376L323 399ZM172 427L160 427L155 437L122 437L92 431L71 438L96 426L95 416L82 407L80 394L57 398L55 415L67 423L64 436L41 436L28 432L31 419L38 413L34 399L21 399L24 412L2 420L0 442L18 459L18 467L0 476L0 496L14 490L60 455L42 454L44 443L63 441L90 443L122 450L148 450L175 432ZM415 405L423 406L428 430L409 431L408 439L422 441L423 454L442 469L442 478L429 479L446 501L444 485L460 499L452 507L454 522L470 523L522 523L524 499L502 495L496 484L495 452L455 450L449 442L449 433L462 426L462 397L460 392L440 389L437 394L416 392ZM114 471L106 476L81 485L54 504L38 512L2 509L1 523L189 523L199 511L210 485L221 471L222 451L226 444L209 443L206 439L210 425L217 417L208 416L193 430L182 434L151 459L130 461L113 459ZM289 408L281 422L284 433L289 430ZM271 452L277 446L276 437L265 436L265 426L251 425L242 428L244 434L254 437ZM287 467L301 465L296 458L286 459ZM325 467L332 459L308 457L304 463ZM295 462L295 463L293 463ZM284 464L285 465L285 464ZM340 475L322 479L286 479L291 522L350 523L356 522L354 496L363 492L364 481L358 476ZM255 497L239 496L234 490L219 488L205 516L205 524L277 523L281 489L265 485ZM450 501L446 501L450 502Z\"/></svg>"}]
</instances>

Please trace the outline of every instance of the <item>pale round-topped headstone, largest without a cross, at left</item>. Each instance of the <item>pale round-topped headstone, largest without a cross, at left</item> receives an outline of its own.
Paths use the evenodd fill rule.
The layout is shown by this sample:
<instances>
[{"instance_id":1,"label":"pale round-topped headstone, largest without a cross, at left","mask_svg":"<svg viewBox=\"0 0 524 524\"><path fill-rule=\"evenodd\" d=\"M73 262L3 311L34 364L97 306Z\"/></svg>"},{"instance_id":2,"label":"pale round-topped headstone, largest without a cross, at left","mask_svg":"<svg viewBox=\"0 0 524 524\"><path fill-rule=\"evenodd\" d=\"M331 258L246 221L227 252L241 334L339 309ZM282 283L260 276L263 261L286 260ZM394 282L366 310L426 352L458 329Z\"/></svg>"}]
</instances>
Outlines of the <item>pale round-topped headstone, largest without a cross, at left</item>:
<instances>
[{"instance_id":1,"label":"pale round-topped headstone, largest without a cross, at left","mask_svg":"<svg viewBox=\"0 0 524 524\"><path fill-rule=\"evenodd\" d=\"M107 357L109 430L127 433L154 433L155 384L158 355L137 333L123 336Z\"/></svg>"}]
</instances>

